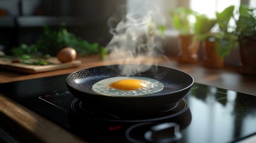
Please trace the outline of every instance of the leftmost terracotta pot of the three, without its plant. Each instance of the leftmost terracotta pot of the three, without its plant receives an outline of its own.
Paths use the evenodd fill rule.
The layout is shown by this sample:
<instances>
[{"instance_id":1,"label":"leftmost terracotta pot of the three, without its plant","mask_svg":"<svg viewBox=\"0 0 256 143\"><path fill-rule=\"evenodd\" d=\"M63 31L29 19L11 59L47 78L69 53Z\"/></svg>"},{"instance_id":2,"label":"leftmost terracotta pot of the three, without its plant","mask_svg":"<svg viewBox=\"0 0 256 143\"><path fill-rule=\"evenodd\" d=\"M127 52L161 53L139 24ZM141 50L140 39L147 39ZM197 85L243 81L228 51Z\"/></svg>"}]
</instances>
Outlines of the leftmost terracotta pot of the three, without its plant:
<instances>
[{"instance_id":1,"label":"leftmost terracotta pot of the three, without its plant","mask_svg":"<svg viewBox=\"0 0 256 143\"><path fill-rule=\"evenodd\" d=\"M192 35L179 35L179 53L177 61L179 63L198 62L199 41L193 43Z\"/></svg>"}]
</instances>

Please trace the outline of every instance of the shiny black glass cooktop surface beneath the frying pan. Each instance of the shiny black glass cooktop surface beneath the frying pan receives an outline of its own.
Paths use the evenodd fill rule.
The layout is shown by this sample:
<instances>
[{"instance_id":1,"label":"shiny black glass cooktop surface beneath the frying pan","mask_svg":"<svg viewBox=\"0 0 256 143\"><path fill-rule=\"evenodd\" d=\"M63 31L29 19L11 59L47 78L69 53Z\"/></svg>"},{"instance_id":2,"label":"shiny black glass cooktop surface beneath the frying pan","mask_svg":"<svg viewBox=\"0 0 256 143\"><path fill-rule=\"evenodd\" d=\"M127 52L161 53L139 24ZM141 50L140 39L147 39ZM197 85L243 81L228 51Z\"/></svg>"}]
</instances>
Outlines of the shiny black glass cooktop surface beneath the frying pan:
<instances>
[{"instance_id":1,"label":"shiny black glass cooktop surface beneath the frying pan","mask_svg":"<svg viewBox=\"0 0 256 143\"><path fill-rule=\"evenodd\" d=\"M158 116L119 116L91 108L73 97L66 87L66 77L65 74L2 83L0 92L89 142L176 139L220 143L235 142L256 133L253 95L194 83L185 99ZM179 128L180 133L173 133L170 126Z\"/></svg>"}]
</instances>

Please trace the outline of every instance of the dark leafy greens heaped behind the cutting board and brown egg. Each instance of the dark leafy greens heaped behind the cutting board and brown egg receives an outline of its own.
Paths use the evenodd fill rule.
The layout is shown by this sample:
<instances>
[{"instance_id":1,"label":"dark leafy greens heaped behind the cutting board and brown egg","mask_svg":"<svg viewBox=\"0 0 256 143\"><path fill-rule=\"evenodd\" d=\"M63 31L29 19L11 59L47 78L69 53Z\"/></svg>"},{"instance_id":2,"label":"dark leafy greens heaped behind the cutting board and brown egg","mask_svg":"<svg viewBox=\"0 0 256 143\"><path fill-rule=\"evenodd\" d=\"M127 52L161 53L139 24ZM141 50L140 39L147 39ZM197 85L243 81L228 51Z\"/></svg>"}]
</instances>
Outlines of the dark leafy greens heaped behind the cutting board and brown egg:
<instances>
[{"instance_id":1,"label":"dark leafy greens heaped behind the cutting board and brown egg","mask_svg":"<svg viewBox=\"0 0 256 143\"><path fill-rule=\"evenodd\" d=\"M42 54L55 56L60 49L65 47L74 48L80 55L106 54L106 52L101 52L104 48L98 43L85 41L73 33L68 32L64 27L60 27L58 30L52 30L48 26L44 26L43 28L43 34L35 44L26 45L22 43L18 48L11 49L12 54L20 57L23 54L41 52Z\"/></svg>"}]
</instances>

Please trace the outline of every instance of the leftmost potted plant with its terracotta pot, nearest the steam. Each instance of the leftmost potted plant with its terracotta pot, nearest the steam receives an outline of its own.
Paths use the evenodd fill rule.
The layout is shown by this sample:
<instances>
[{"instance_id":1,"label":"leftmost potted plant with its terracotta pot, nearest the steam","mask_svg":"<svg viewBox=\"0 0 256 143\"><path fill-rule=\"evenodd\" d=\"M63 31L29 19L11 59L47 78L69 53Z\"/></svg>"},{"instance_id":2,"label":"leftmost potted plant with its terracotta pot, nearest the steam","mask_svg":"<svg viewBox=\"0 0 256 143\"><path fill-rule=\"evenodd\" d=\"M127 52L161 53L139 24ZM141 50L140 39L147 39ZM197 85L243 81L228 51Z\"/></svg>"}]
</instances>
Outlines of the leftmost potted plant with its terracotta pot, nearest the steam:
<instances>
[{"instance_id":1,"label":"leftmost potted plant with its terracotta pot, nearest the steam","mask_svg":"<svg viewBox=\"0 0 256 143\"><path fill-rule=\"evenodd\" d=\"M178 30L179 53L177 61L180 63L196 63L198 61L199 41L195 40L193 24L189 20L195 17L195 12L184 7L170 11L172 26Z\"/></svg>"}]
</instances>

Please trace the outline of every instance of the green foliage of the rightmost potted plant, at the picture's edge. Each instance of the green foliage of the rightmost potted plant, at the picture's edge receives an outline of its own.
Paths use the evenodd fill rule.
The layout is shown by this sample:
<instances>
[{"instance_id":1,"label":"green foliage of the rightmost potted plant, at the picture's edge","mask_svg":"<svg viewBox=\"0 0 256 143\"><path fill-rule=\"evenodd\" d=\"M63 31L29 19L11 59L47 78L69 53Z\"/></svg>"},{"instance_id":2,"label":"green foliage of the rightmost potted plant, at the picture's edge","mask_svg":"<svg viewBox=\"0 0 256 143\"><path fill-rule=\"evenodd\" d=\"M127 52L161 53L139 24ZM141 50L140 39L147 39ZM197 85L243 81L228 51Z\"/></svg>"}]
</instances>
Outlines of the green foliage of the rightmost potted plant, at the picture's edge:
<instances>
[{"instance_id":1,"label":"green foliage of the rightmost potted plant, at the picture's edge","mask_svg":"<svg viewBox=\"0 0 256 143\"><path fill-rule=\"evenodd\" d=\"M256 8L241 5L238 12L240 15L236 20L235 34L243 42L249 39L256 40Z\"/></svg>"}]
</instances>

